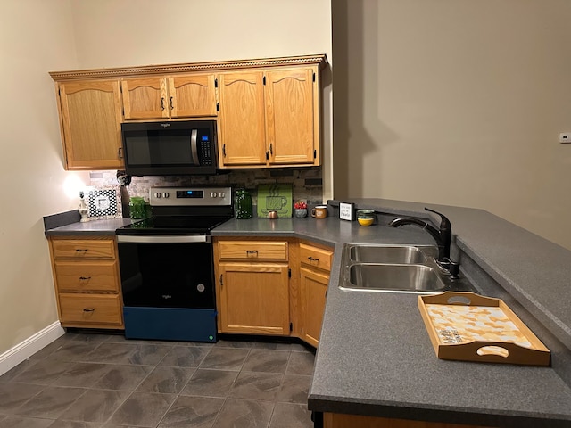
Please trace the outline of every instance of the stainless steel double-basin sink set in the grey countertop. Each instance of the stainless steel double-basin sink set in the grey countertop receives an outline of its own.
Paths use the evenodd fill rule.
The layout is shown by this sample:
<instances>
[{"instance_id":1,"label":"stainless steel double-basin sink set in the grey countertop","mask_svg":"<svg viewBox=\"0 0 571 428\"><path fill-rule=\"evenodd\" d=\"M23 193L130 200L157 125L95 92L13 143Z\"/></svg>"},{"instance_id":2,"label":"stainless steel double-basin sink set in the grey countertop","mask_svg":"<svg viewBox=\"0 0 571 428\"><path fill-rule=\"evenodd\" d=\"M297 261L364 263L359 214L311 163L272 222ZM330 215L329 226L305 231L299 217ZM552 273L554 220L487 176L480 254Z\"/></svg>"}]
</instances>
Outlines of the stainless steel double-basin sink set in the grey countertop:
<instances>
[{"instance_id":1,"label":"stainless steel double-basin sink set in the grey countertop","mask_svg":"<svg viewBox=\"0 0 571 428\"><path fill-rule=\"evenodd\" d=\"M451 279L435 261L433 245L383 245L345 243L343 277L345 291L435 293L474 291L468 281Z\"/></svg>"}]
</instances>

